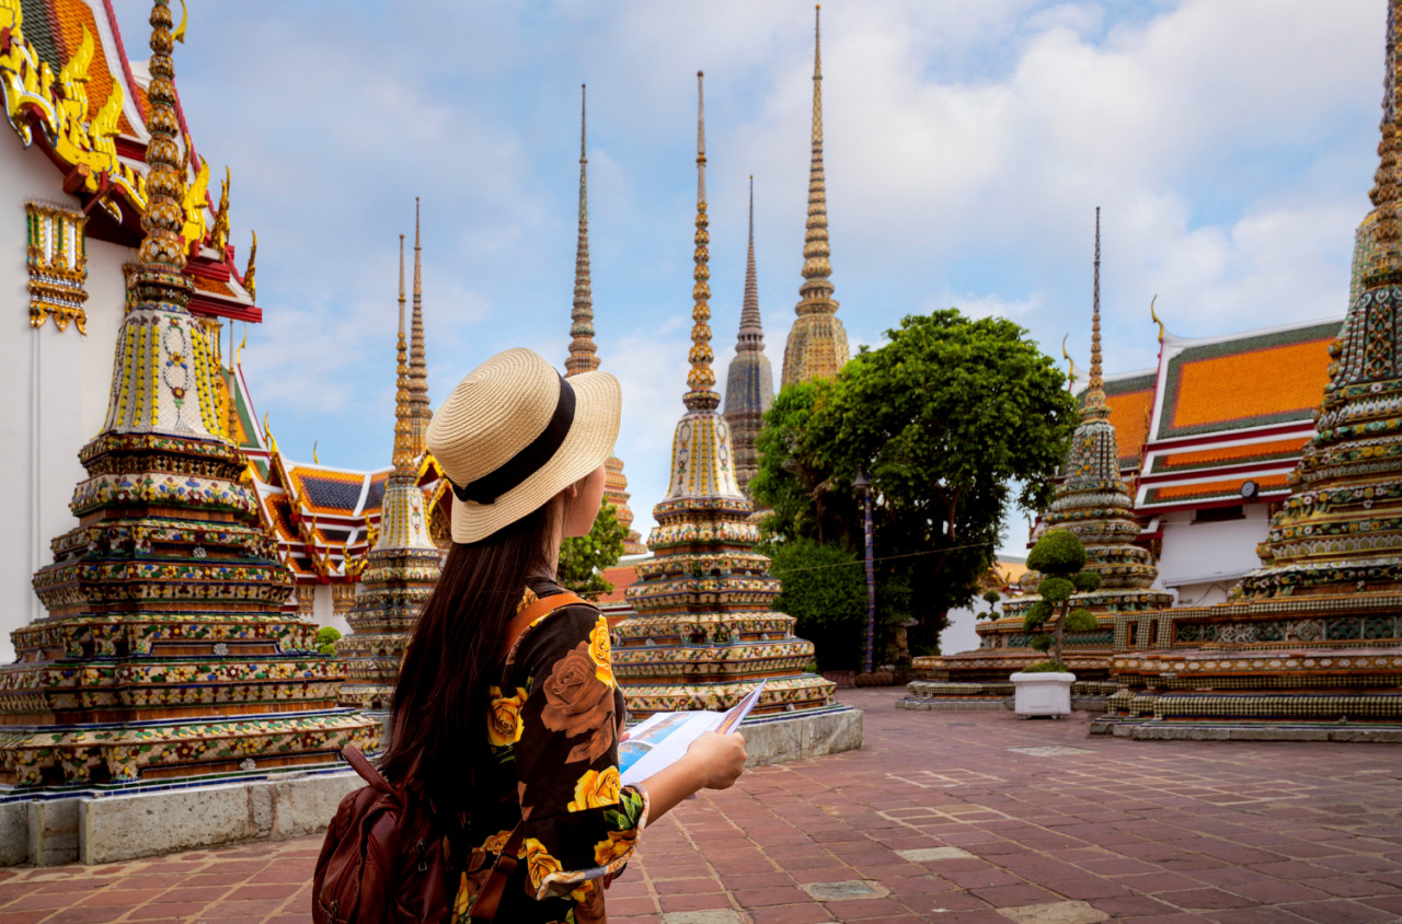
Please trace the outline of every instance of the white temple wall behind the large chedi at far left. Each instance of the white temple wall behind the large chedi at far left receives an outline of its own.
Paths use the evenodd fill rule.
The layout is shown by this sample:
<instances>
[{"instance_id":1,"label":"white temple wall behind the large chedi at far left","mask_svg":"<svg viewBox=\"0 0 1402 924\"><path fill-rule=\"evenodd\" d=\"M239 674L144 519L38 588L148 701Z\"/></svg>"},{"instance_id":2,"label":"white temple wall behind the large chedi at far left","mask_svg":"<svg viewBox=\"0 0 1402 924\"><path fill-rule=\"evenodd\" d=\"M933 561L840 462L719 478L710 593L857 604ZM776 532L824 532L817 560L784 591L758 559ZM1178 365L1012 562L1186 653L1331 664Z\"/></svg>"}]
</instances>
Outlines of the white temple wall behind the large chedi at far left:
<instances>
[{"instance_id":1,"label":"white temple wall behind the large chedi at far left","mask_svg":"<svg viewBox=\"0 0 1402 924\"><path fill-rule=\"evenodd\" d=\"M77 327L59 331L49 318L29 327L29 271L25 264L25 202L77 209L62 192L53 164L25 150L8 132L0 139L0 387L11 395L0 411L0 663L14 659L10 632L42 616L29 585L53 561L49 541L72 529L73 488L86 477L77 451L102 425L112 379L112 351L122 321L122 264L135 251L87 241L87 337Z\"/></svg>"}]
</instances>

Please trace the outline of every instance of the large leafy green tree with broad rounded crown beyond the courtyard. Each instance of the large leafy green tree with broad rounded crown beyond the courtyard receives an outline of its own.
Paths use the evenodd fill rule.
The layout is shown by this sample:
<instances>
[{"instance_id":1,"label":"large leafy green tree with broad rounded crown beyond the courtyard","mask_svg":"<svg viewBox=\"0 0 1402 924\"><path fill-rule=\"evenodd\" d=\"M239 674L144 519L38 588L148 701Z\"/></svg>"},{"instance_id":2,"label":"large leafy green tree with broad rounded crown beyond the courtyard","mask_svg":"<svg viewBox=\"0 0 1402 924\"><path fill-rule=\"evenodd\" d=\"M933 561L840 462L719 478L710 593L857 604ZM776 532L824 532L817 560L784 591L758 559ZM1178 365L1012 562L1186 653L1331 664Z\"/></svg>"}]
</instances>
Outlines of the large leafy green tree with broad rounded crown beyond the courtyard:
<instances>
[{"instance_id":1,"label":"large leafy green tree with broad rounded crown beyond the courtyard","mask_svg":"<svg viewBox=\"0 0 1402 924\"><path fill-rule=\"evenodd\" d=\"M1009 503L1050 498L1075 425L1066 379L1026 331L956 308L911 315L830 383L784 388L764 418L756 498L775 537L862 548L852 481L873 496L878 604L938 649L993 561Z\"/></svg>"}]
</instances>

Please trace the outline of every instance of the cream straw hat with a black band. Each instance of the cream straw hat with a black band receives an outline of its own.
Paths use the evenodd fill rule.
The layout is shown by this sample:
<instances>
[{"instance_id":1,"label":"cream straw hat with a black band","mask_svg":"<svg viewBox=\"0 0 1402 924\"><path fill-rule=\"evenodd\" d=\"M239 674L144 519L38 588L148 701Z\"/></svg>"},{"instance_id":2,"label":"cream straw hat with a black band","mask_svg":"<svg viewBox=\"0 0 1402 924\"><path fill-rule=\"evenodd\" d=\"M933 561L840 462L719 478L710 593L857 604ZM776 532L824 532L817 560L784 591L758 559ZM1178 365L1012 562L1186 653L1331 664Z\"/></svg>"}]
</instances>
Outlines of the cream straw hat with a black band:
<instances>
[{"instance_id":1,"label":"cream straw hat with a black band","mask_svg":"<svg viewBox=\"0 0 1402 924\"><path fill-rule=\"evenodd\" d=\"M428 432L456 495L453 541L486 538L599 468L618 437L621 405L608 373L565 380L524 348L470 372Z\"/></svg>"}]
</instances>

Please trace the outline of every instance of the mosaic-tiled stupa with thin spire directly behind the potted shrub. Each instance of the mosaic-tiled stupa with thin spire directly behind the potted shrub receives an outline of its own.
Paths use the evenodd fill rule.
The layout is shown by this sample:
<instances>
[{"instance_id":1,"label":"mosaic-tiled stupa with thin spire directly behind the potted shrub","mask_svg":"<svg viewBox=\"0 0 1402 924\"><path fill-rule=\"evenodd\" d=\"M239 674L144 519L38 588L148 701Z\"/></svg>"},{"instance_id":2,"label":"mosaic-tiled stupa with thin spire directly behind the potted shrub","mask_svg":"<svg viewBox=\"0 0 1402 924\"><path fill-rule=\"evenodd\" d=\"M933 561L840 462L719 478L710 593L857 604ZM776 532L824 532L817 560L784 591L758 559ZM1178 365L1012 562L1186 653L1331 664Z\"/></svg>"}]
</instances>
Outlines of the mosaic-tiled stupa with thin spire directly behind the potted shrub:
<instances>
[{"instance_id":1,"label":"mosaic-tiled stupa with thin spire directly behind the potted shrub","mask_svg":"<svg viewBox=\"0 0 1402 924\"><path fill-rule=\"evenodd\" d=\"M1115 621L1120 614L1159 610L1173 596L1154 590L1158 569L1150 551L1134 544L1140 524L1133 513L1130 487L1120 478L1119 446L1101 372L1101 210L1095 210L1095 271L1091 308L1091 380L1081 400L1081 423L1071 436L1071 450L1050 508L1046 529L1075 533L1085 545L1087 569L1101 575L1101 587L1071 597L1073 609L1089 610L1098 627L1067 632L1061 660L1075 673L1073 693L1103 697L1113 651ZM1025 578L1032 587L1039 575ZM1012 695L1008 676L1047 655L1030 648L1033 632L1023 628L1036 595L1004 603L1002 618L979 625L981 646L962 655L917 658L914 667L925 680L910 684L910 704L930 708L1001 708ZM1098 705L1098 704L1096 704Z\"/></svg>"}]
</instances>

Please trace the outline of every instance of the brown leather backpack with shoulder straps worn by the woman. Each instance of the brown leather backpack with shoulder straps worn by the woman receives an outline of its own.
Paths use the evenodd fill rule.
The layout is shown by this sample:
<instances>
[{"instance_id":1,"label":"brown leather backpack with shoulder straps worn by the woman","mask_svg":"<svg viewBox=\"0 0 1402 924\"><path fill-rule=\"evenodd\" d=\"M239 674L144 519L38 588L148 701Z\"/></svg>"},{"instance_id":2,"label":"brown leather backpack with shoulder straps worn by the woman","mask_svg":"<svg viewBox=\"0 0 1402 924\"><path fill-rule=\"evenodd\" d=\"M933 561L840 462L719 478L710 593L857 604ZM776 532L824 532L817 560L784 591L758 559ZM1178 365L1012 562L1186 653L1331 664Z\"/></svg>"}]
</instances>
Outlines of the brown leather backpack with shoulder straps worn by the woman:
<instances>
[{"instance_id":1,"label":"brown leather backpack with shoulder straps worn by the woman","mask_svg":"<svg viewBox=\"0 0 1402 924\"><path fill-rule=\"evenodd\" d=\"M555 610L585 603L558 593L512 620L508 651L527 625ZM503 652L505 655L505 652ZM432 924L451 920L457 879L450 872L443 831L433 810L411 788L391 785L355 747L341 752L369 785L348 794L327 827L311 881L314 924ZM472 921L496 917L506 881L516 869L523 833L512 831L492 875L472 902Z\"/></svg>"}]
</instances>

